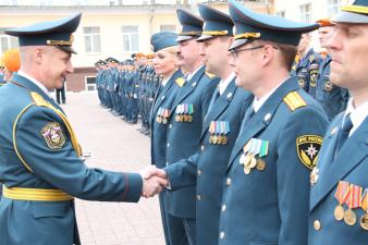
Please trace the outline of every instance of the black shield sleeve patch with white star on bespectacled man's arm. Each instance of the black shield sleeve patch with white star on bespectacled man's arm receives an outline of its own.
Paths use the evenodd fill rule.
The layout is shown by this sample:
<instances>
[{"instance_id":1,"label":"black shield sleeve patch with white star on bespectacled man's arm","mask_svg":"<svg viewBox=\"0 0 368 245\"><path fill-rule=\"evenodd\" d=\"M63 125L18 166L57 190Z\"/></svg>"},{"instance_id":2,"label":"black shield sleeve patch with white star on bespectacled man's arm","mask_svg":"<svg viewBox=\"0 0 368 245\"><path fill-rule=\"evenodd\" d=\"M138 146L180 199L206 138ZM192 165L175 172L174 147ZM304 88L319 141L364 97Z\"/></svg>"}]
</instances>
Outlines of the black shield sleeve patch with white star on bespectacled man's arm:
<instances>
[{"instance_id":1,"label":"black shield sleeve patch with white star on bespectacled man's arm","mask_svg":"<svg viewBox=\"0 0 368 245\"><path fill-rule=\"evenodd\" d=\"M323 138L319 135L302 135L296 138L296 151L302 163L308 169L316 167Z\"/></svg>"}]
</instances>

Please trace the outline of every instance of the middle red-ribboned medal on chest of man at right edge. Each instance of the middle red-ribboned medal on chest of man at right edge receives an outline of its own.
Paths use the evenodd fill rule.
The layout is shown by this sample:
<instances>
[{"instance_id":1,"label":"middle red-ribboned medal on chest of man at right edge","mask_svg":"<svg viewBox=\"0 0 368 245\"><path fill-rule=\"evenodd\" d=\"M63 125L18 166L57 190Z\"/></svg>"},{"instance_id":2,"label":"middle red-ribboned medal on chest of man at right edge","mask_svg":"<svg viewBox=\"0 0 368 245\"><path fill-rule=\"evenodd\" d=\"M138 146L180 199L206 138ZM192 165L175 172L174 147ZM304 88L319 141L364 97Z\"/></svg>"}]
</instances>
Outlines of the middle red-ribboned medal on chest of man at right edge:
<instances>
[{"instance_id":1,"label":"middle red-ribboned medal on chest of man at right edge","mask_svg":"<svg viewBox=\"0 0 368 245\"><path fill-rule=\"evenodd\" d=\"M351 184L346 192L346 205L348 209L344 213L344 221L347 225L354 225L356 223L356 213L354 208L360 207L363 188L357 185Z\"/></svg>"}]
</instances>

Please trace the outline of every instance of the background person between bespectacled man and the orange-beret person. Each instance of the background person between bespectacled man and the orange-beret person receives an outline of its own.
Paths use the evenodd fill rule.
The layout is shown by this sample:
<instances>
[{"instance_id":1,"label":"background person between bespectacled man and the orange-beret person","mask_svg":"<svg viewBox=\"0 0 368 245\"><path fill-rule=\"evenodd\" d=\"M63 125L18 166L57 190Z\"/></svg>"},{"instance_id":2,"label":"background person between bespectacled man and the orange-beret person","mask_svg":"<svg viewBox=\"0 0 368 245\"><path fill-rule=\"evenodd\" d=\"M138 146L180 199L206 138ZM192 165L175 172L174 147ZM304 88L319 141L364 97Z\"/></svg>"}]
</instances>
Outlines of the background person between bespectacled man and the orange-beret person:
<instances>
[{"instance_id":1,"label":"background person between bespectacled man and the orange-beret person","mask_svg":"<svg viewBox=\"0 0 368 245\"><path fill-rule=\"evenodd\" d=\"M309 94L309 90L317 86L319 64L322 58L310 48L310 33L302 35L297 46L297 54L292 66L291 75L297 76L299 86Z\"/></svg>"}]
</instances>

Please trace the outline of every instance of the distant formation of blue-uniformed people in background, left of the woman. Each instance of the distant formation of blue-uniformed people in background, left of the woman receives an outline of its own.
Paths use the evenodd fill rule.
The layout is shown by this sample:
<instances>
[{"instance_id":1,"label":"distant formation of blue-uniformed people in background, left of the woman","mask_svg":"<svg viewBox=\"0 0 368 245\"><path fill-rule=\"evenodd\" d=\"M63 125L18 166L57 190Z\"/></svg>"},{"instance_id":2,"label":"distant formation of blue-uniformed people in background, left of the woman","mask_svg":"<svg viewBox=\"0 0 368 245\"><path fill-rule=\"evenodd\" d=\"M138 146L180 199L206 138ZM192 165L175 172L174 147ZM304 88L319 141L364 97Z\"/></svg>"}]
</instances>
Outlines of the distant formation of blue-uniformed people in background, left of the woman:
<instances>
[{"instance_id":1,"label":"distant formation of blue-uniformed people in background, left of the woman","mask_svg":"<svg viewBox=\"0 0 368 245\"><path fill-rule=\"evenodd\" d=\"M128 123L137 123L139 114L140 132L149 135L149 113L161 77L155 73L151 54L134 53L132 58L121 62L108 58L95 63L98 98L103 108Z\"/></svg>"}]
</instances>

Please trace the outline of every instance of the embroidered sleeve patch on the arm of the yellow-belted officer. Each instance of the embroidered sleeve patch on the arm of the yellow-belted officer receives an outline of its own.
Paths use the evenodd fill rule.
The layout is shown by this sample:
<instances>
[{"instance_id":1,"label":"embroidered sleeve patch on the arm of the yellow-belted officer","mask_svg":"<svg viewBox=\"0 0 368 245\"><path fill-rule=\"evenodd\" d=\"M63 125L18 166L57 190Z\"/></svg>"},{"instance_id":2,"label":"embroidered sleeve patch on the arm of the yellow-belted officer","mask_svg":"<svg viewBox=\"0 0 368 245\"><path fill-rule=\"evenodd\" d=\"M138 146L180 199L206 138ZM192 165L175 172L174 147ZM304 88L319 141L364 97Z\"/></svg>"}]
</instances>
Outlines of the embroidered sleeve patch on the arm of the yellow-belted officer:
<instances>
[{"instance_id":1,"label":"embroidered sleeve patch on the arm of the yellow-belted officer","mask_svg":"<svg viewBox=\"0 0 368 245\"><path fill-rule=\"evenodd\" d=\"M57 122L46 124L41 130L41 135L50 149L60 149L65 144L64 133Z\"/></svg>"}]
</instances>

